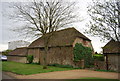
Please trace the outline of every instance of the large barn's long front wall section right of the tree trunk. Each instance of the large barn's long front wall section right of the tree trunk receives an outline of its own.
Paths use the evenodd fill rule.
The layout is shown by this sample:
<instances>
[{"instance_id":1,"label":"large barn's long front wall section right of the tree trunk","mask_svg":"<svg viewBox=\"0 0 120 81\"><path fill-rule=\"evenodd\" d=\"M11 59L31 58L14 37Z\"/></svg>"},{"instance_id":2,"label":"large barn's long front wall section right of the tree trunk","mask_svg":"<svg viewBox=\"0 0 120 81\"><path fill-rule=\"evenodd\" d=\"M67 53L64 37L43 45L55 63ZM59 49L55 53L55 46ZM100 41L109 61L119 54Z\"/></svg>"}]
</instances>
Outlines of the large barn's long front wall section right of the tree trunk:
<instances>
[{"instance_id":1,"label":"large barn's long front wall section right of the tree trunk","mask_svg":"<svg viewBox=\"0 0 120 81\"><path fill-rule=\"evenodd\" d=\"M73 47L50 48L48 64L73 65Z\"/></svg>"}]
</instances>

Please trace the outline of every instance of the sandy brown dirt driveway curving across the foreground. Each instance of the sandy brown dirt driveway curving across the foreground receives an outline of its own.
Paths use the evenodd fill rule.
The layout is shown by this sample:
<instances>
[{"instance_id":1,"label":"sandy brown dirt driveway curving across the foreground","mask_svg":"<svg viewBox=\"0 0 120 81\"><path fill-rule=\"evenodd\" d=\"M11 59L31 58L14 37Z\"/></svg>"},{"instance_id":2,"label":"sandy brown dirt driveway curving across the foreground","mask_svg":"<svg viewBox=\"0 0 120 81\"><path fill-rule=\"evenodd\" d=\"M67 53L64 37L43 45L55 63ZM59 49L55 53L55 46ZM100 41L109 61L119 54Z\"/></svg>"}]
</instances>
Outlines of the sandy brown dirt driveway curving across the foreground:
<instances>
[{"instance_id":1,"label":"sandy brown dirt driveway curving across the foreground","mask_svg":"<svg viewBox=\"0 0 120 81\"><path fill-rule=\"evenodd\" d=\"M33 75L16 75L6 72L18 79L78 79L83 77L99 77L106 79L118 79L118 73L113 72L98 72L91 70L69 70L69 71L56 71L49 73L40 73Z\"/></svg>"}]
</instances>

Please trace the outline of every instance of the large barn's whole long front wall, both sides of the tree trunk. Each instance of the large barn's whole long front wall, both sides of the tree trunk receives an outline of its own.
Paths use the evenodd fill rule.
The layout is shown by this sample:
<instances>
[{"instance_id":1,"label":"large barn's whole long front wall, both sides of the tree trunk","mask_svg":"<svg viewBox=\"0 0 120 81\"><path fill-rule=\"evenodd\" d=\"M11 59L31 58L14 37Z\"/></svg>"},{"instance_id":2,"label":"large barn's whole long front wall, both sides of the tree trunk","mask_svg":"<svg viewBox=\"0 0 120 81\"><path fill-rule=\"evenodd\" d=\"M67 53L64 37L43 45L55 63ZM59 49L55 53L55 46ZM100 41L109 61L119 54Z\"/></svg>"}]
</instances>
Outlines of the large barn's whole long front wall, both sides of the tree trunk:
<instances>
[{"instance_id":1,"label":"large barn's whole long front wall, both sides of the tree trunk","mask_svg":"<svg viewBox=\"0 0 120 81\"><path fill-rule=\"evenodd\" d=\"M39 62L43 64L44 49L29 49L28 54L33 54L35 60L34 62ZM74 65L73 63L73 47L52 47L49 48L47 55L48 64L61 64L61 65Z\"/></svg>"}]
</instances>

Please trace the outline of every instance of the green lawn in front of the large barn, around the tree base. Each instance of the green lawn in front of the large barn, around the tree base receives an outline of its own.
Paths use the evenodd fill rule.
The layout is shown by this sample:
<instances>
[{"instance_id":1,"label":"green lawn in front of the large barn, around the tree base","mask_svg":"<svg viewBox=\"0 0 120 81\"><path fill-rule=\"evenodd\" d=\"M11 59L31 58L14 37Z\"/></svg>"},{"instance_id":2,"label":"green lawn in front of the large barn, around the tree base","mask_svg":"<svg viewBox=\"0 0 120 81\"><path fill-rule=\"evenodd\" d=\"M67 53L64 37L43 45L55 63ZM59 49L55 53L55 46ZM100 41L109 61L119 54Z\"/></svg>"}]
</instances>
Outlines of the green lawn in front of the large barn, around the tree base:
<instances>
[{"instance_id":1,"label":"green lawn in front of the large barn, around the tree base","mask_svg":"<svg viewBox=\"0 0 120 81\"><path fill-rule=\"evenodd\" d=\"M73 70L73 68L59 68L53 66L48 66L48 69L42 69L42 68L43 68L42 65L36 65L36 64L24 64L24 63L10 62L10 61L2 62L3 71L9 71L21 75Z\"/></svg>"}]
</instances>

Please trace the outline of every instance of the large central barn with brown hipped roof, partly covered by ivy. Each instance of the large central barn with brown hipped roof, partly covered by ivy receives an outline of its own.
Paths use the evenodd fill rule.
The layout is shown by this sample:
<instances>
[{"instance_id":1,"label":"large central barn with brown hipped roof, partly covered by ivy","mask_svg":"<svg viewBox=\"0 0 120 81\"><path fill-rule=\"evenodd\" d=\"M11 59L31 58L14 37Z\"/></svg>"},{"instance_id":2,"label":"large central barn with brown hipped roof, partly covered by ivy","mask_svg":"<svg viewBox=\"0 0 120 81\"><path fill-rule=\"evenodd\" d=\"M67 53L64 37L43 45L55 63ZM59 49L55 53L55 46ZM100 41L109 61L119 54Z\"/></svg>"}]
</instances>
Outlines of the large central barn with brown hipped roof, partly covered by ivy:
<instances>
[{"instance_id":1,"label":"large central barn with brown hipped roof, partly covered by ivy","mask_svg":"<svg viewBox=\"0 0 120 81\"><path fill-rule=\"evenodd\" d=\"M47 34L49 36L49 33ZM67 28L55 31L49 39L49 49L47 54L47 64L61 64L79 67L80 64L74 62L73 48L76 43L82 43L86 47L93 49L91 40L77 31L75 28ZM44 36L33 41L28 49L28 55L34 55L34 62L43 64Z\"/></svg>"}]
</instances>

